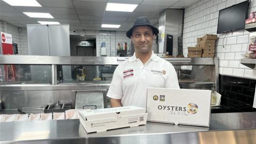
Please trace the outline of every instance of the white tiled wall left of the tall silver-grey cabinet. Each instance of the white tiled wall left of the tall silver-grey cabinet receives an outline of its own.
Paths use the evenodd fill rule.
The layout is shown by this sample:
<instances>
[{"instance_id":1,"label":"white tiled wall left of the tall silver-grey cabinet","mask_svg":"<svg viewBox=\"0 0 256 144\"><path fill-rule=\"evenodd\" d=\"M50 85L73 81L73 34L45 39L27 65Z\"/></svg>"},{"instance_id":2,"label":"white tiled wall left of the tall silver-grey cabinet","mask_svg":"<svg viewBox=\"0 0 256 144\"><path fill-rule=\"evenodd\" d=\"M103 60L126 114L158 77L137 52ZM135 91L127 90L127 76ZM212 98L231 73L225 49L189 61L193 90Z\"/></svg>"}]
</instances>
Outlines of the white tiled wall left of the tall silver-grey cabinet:
<instances>
[{"instance_id":1,"label":"white tiled wall left of the tall silver-grey cabinet","mask_svg":"<svg viewBox=\"0 0 256 144\"><path fill-rule=\"evenodd\" d=\"M5 21L0 21L0 31L4 33L12 34L12 41L18 44L19 55L28 54L28 39L27 39L27 29L19 28L10 25Z\"/></svg>"}]
</instances>

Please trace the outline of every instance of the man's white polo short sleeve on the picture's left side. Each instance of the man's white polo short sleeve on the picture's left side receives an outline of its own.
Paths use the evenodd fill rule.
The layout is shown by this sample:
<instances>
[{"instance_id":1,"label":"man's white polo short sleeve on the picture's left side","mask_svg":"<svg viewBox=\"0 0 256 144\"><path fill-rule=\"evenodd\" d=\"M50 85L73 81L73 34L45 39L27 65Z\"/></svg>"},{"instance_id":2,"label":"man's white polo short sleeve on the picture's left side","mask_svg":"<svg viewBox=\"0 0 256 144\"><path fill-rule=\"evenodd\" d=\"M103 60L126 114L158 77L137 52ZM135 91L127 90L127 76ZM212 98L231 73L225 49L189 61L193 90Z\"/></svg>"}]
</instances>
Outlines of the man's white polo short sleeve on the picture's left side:
<instances>
[{"instance_id":1,"label":"man's white polo short sleeve on the picture's left side","mask_svg":"<svg viewBox=\"0 0 256 144\"><path fill-rule=\"evenodd\" d=\"M113 79L111 81L107 97L113 99L122 99L123 97L123 86L122 86L122 77L120 75L120 68L121 66L117 66L114 71Z\"/></svg>"}]
</instances>

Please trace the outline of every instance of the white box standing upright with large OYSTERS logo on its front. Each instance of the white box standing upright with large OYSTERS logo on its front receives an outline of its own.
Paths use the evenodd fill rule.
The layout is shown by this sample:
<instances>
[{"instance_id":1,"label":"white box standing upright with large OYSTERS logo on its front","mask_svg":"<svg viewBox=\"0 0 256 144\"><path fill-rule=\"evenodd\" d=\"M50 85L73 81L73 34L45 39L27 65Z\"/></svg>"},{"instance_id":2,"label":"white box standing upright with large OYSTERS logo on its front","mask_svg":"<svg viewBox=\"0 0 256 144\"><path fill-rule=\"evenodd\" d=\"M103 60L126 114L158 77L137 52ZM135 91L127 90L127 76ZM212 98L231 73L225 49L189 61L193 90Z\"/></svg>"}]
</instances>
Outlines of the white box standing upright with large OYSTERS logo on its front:
<instances>
[{"instance_id":1,"label":"white box standing upright with large OYSTERS logo on its front","mask_svg":"<svg viewBox=\"0 0 256 144\"><path fill-rule=\"evenodd\" d=\"M191 89L147 89L148 121L209 126L211 91Z\"/></svg>"}]
</instances>

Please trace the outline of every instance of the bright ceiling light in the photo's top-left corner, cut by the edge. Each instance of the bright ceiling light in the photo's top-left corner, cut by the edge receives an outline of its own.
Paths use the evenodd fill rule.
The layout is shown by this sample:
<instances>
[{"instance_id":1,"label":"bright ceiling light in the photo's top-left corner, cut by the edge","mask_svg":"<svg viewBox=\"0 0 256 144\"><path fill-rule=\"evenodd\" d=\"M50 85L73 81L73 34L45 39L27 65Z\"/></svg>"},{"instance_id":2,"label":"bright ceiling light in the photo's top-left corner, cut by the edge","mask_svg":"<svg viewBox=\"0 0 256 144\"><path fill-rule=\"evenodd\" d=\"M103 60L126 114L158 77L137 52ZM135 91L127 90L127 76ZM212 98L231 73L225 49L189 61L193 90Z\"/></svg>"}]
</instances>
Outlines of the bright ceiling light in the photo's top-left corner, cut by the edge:
<instances>
[{"instance_id":1,"label":"bright ceiling light in the photo's top-left corner, cut by the edge","mask_svg":"<svg viewBox=\"0 0 256 144\"><path fill-rule=\"evenodd\" d=\"M10 4L11 6L38 6L42 7L36 0L3 0L4 2Z\"/></svg>"}]
</instances>

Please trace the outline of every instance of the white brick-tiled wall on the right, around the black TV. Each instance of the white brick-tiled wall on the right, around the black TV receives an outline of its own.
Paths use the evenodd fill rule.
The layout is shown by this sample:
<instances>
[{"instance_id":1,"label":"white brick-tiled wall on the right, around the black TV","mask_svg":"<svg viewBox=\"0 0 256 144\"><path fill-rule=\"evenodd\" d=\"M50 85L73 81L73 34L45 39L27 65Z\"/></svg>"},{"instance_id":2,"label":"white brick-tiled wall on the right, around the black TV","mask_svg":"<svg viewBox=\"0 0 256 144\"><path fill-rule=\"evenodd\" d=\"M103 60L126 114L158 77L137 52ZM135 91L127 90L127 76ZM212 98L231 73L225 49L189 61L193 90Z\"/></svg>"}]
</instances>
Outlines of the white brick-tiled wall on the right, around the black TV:
<instances>
[{"instance_id":1,"label":"white brick-tiled wall on the right, around the black TV","mask_svg":"<svg viewBox=\"0 0 256 144\"><path fill-rule=\"evenodd\" d=\"M205 34L217 34L219 10L245 0L201 0L185 9L183 29L183 53L187 55L188 46L196 45L196 38ZM256 11L256 0L252 0L249 11ZM256 69L240 63L247 50L249 32L236 30L218 34L215 56L219 58L219 73L222 75L256 78ZM225 48L222 47L222 44Z\"/></svg>"}]
</instances>

